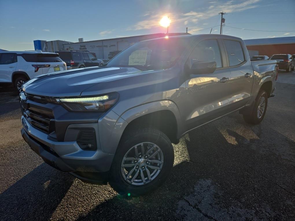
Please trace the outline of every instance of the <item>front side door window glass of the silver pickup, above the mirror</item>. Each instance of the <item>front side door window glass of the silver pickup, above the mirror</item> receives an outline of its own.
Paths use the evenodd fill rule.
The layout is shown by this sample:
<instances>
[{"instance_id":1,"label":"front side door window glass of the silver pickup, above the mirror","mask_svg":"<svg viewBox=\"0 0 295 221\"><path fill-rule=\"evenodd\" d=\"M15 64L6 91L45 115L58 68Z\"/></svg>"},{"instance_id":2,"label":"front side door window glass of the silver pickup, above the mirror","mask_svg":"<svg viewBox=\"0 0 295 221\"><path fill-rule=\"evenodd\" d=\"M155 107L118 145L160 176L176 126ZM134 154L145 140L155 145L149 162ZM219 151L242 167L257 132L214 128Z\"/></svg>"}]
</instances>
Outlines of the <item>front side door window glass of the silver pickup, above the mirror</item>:
<instances>
[{"instance_id":1,"label":"front side door window glass of the silver pickup, above the mirror","mask_svg":"<svg viewBox=\"0 0 295 221\"><path fill-rule=\"evenodd\" d=\"M216 39L199 42L191 52L186 64L191 67L195 62L202 61L215 61L217 68L222 67L220 50Z\"/></svg>"}]
</instances>

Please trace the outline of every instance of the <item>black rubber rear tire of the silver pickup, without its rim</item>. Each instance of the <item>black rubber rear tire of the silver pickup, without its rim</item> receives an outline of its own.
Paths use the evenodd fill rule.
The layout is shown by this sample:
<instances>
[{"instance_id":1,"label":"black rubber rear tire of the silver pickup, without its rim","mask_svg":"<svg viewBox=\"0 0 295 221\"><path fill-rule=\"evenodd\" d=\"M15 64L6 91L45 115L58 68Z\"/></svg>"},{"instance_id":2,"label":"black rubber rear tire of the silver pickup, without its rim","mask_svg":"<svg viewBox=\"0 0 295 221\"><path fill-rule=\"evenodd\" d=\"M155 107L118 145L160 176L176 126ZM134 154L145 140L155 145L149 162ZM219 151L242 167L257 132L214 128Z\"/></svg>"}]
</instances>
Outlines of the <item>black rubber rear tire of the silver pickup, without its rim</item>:
<instances>
[{"instance_id":1,"label":"black rubber rear tire of the silver pickup, without its rim","mask_svg":"<svg viewBox=\"0 0 295 221\"><path fill-rule=\"evenodd\" d=\"M262 116L260 118L258 118L258 107L259 107L260 99L262 99L262 97L264 97L264 99L265 99L265 108L263 110ZM260 90L256 99L255 99L255 104L254 104L252 113L249 115L247 115L247 114L243 115L244 121L246 123L258 124L263 120L265 113L266 113L266 109L267 109L267 98L268 98L267 93L264 90Z\"/></svg>"}]
</instances>

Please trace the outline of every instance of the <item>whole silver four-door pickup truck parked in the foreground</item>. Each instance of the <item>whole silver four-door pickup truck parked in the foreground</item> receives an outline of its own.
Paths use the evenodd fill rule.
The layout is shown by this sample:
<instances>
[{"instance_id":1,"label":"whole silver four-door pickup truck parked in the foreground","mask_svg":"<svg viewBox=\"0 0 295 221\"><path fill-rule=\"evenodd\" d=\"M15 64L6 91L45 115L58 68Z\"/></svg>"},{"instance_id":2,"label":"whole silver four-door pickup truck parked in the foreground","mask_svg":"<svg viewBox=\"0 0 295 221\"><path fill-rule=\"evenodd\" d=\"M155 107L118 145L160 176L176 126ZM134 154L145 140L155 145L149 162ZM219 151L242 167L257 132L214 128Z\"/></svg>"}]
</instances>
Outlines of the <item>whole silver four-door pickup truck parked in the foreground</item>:
<instances>
[{"instance_id":1,"label":"whole silver four-door pickup truck parked in the foreground","mask_svg":"<svg viewBox=\"0 0 295 221\"><path fill-rule=\"evenodd\" d=\"M188 131L237 110L246 123L260 123L276 77L276 61L250 62L237 37L142 41L103 67L24 83L21 133L56 169L109 182L120 194L145 194L169 176L171 143Z\"/></svg>"}]
</instances>

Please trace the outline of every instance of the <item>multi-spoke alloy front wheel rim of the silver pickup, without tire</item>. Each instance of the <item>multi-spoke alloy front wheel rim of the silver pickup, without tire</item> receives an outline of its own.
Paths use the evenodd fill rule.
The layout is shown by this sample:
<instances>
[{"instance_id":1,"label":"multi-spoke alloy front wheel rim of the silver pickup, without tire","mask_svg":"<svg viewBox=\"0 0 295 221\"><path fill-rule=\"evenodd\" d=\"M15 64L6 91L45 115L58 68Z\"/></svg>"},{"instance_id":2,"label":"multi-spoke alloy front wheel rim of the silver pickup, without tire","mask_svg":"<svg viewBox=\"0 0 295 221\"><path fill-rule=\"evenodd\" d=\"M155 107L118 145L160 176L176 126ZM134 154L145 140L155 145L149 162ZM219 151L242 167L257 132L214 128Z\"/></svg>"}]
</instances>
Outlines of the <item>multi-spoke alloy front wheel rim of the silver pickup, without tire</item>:
<instances>
[{"instance_id":1,"label":"multi-spoke alloy front wheel rim of the silver pickup, without tire","mask_svg":"<svg viewBox=\"0 0 295 221\"><path fill-rule=\"evenodd\" d=\"M131 147L121 163L121 174L131 185L145 185L153 181L163 167L163 152L159 146L143 142Z\"/></svg>"}]
</instances>

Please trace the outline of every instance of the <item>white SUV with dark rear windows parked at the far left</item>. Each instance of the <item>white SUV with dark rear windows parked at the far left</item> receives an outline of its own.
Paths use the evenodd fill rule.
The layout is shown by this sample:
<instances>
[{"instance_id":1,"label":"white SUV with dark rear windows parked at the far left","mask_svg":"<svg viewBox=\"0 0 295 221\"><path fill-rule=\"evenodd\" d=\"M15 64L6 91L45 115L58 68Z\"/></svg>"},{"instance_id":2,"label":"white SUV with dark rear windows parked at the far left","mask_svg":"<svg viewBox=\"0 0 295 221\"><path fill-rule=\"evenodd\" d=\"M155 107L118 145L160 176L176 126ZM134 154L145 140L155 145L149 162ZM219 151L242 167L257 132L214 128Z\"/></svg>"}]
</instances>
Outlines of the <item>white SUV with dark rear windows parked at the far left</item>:
<instances>
[{"instance_id":1,"label":"white SUV with dark rear windows parked at the far left","mask_svg":"<svg viewBox=\"0 0 295 221\"><path fill-rule=\"evenodd\" d=\"M42 51L0 52L0 84L12 83L20 91L27 80L42 74L67 70L56 53Z\"/></svg>"}]
</instances>

